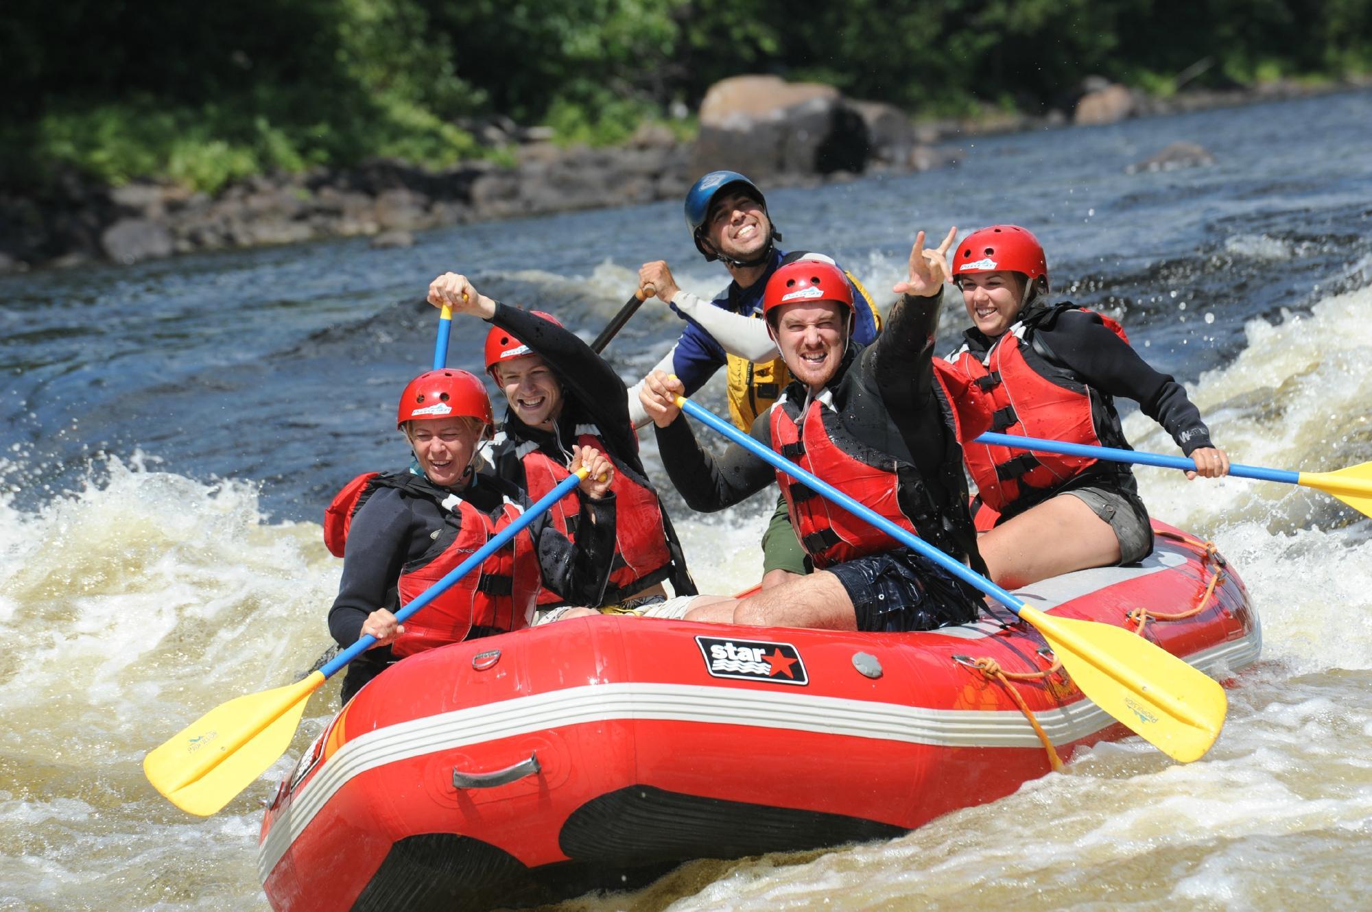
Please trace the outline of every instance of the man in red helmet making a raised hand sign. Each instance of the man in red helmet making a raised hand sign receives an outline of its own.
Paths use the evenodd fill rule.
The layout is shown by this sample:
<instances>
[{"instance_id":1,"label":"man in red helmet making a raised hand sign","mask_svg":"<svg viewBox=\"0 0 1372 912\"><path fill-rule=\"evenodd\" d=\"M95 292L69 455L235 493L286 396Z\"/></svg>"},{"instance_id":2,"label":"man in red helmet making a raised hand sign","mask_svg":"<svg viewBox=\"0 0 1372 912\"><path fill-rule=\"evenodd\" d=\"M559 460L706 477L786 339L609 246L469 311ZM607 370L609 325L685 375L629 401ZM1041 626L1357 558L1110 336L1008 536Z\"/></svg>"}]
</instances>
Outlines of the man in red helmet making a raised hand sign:
<instances>
[{"instance_id":1,"label":"man in red helmet making a raised hand sign","mask_svg":"<svg viewBox=\"0 0 1372 912\"><path fill-rule=\"evenodd\" d=\"M763 299L766 325L794 377L749 433L820 479L837 483L896 525L981 569L967 512L956 417L933 369L933 336L948 278L947 251L919 232L908 281L871 346L853 341L852 291L840 269L799 261L777 269ZM663 370L641 392L663 464L686 502L720 510L782 487L811 576L734 599L672 599L648 613L733 624L915 631L973 620L980 594L738 444L713 458L676 407L686 385Z\"/></svg>"}]
</instances>

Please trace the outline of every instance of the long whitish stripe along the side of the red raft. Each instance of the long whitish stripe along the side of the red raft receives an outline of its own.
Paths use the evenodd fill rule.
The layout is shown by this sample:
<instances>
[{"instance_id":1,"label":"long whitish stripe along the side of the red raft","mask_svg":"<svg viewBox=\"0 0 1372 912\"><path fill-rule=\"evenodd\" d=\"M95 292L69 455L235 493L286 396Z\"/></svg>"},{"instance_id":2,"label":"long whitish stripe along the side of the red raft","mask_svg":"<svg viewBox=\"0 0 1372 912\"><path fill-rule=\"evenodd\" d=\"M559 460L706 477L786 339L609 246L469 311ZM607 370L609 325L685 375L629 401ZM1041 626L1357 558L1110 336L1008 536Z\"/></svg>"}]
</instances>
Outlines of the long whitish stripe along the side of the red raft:
<instances>
[{"instance_id":1,"label":"long whitish stripe along the side of the red raft","mask_svg":"<svg viewBox=\"0 0 1372 912\"><path fill-rule=\"evenodd\" d=\"M1225 677L1257 660L1261 629L1187 657ZM1087 738L1111 724L1087 699L1034 717L1055 745ZM366 732L329 757L273 821L258 850L263 883L291 843L350 779L390 763L547 728L637 720L789 728L845 738L875 738L947 747L1037 747L1039 736L1017 709L952 710L904 706L803 691L689 684L593 684L416 719Z\"/></svg>"}]
</instances>

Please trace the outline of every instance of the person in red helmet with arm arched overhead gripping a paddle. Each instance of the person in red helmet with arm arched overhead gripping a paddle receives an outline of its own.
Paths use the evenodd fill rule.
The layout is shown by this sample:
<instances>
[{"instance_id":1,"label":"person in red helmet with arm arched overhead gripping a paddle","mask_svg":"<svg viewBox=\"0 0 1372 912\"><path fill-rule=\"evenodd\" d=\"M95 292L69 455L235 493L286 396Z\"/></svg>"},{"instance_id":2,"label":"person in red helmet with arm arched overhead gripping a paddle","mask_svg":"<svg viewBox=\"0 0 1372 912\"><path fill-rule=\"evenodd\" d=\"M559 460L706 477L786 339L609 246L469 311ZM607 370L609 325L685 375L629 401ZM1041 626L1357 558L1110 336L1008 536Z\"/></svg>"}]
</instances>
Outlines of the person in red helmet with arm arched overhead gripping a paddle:
<instances>
[{"instance_id":1,"label":"person in red helmet with arm arched overhead gripping a paddle","mask_svg":"<svg viewBox=\"0 0 1372 912\"><path fill-rule=\"evenodd\" d=\"M694 594L676 533L638 457L624 381L615 369L552 314L502 304L476 291L465 276L443 273L429 284L428 300L493 324L486 336L486 369L509 402L493 447L498 476L538 499L567 477L576 446L601 450L615 464L619 521L613 566L602 602L593 603L665 597L664 580L676 595ZM569 494L549 516L575 540L578 512L578 498ZM563 601L547 592L539 606Z\"/></svg>"}]
</instances>

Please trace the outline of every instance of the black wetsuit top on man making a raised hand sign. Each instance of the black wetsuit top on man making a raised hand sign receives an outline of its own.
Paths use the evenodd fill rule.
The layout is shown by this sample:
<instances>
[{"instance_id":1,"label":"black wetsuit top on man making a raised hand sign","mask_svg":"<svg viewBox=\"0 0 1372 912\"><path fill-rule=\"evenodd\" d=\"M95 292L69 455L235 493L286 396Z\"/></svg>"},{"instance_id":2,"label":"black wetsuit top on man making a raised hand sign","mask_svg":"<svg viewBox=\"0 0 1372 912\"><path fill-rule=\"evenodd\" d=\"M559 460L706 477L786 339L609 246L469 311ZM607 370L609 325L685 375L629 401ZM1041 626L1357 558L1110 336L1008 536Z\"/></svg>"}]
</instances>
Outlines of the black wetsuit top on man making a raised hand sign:
<instances>
[{"instance_id":1,"label":"black wetsuit top on man making a raised hand sign","mask_svg":"<svg viewBox=\"0 0 1372 912\"><path fill-rule=\"evenodd\" d=\"M934 543L977 566L981 561L967 513L962 447L949 425L943 388L933 379L933 333L941 303L941 291L930 298L903 298L877 341L849 343L826 389L833 394L833 406L851 437L914 466L915 477L908 479L912 484L901 479L897 495L901 512L910 517L927 513L926 505L908 502L916 484L922 485L933 501L927 506L944 527ZM809 389L793 381L786 398L808 403ZM749 435L774 448L771 410L753 421ZM672 483L696 510L722 510L777 480L771 465L737 443L719 458L702 450L685 416L657 428L657 448ZM826 480L842 488L841 479Z\"/></svg>"}]
</instances>

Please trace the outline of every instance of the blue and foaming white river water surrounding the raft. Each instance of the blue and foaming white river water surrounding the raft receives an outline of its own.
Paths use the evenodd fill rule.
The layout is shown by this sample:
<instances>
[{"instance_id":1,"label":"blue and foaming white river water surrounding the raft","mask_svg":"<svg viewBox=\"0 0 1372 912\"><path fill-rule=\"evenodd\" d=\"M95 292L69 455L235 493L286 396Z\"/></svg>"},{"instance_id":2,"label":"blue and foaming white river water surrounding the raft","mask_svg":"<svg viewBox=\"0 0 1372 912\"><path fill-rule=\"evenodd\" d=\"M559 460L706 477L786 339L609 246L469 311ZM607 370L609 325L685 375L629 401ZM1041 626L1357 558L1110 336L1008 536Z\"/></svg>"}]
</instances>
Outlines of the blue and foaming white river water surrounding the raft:
<instances>
[{"instance_id":1,"label":"blue and foaming white river water surrounding the raft","mask_svg":"<svg viewBox=\"0 0 1372 912\"><path fill-rule=\"evenodd\" d=\"M1179 140L1217 162L1125 171ZM978 139L956 169L768 202L788 247L836 254L882 300L916 229L1030 226L1055 289L1121 317L1236 461L1328 470L1372 458L1369 152L1360 92ZM0 278L0 909L265 909L259 802L336 684L294 753L214 817L169 805L140 764L328 645L339 561L320 516L353 475L405 461L392 416L432 359L428 280L468 272L591 337L660 256L683 287L723 284L675 203L401 251L344 240ZM637 379L679 329L649 303L608 354ZM483 331L460 317L450 363L479 369ZM702 399L720 409L722 388ZM1139 414L1126 432L1174 451ZM1264 660L1203 760L1102 745L890 842L701 861L564 908L1367 908L1372 521L1303 488L1139 475L1152 513L1213 538L1262 616ZM675 501L704 590L753 580L764 499L709 517Z\"/></svg>"}]
</instances>

